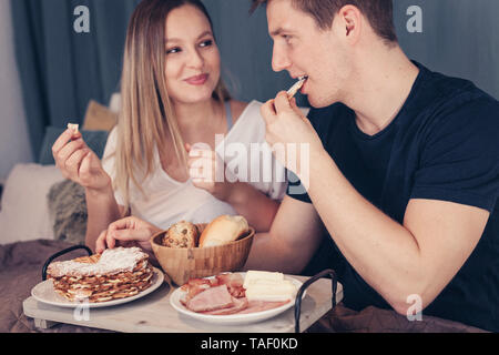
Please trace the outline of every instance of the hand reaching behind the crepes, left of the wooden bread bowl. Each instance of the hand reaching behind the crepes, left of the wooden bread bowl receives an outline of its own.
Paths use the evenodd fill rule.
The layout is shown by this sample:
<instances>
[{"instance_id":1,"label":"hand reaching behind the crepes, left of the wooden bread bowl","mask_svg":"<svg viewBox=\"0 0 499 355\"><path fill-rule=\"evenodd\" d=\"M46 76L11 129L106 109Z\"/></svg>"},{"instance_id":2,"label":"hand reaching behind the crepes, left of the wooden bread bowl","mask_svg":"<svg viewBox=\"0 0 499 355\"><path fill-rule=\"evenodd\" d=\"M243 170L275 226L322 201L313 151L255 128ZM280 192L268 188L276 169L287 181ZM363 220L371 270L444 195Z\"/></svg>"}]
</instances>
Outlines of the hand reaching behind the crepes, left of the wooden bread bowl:
<instances>
[{"instance_id":1,"label":"hand reaching behind the crepes, left of the wooden bread bowl","mask_svg":"<svg viewBox=\"0 0 499 355\"><path fill-rule=\"evenodd\" d=\"M95 252L101 254L106 248L138 244L144 251L151 253L151 237L161 231L155 225L134 216L122 219L111 223L108 230L99 235L95 242Z\"/></svg>"}]
</instances>

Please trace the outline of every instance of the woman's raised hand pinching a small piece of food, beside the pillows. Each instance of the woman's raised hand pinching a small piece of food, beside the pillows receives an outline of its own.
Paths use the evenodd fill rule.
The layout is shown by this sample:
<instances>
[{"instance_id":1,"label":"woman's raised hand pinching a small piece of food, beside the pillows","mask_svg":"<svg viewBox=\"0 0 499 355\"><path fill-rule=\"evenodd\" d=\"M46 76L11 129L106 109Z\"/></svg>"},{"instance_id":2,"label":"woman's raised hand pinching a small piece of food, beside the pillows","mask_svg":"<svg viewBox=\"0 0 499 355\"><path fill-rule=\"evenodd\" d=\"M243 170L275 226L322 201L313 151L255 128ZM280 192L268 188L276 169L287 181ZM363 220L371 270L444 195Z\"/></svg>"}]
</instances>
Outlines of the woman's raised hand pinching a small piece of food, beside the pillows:
<instances>
[{"instance_id":1,"label":"woman's raised hand pinching a small piece of food, beside the pillows","mask_svg":"<svg viewBox=\"0 0 499 355\"><path fill-rule=\"evenodd\" d=\"M111 178L80 132L74 133L70 129L64 131L53 144L52 154L64 178L92 191L103 191L111 186Z\"/></svg>"}]
</instances>

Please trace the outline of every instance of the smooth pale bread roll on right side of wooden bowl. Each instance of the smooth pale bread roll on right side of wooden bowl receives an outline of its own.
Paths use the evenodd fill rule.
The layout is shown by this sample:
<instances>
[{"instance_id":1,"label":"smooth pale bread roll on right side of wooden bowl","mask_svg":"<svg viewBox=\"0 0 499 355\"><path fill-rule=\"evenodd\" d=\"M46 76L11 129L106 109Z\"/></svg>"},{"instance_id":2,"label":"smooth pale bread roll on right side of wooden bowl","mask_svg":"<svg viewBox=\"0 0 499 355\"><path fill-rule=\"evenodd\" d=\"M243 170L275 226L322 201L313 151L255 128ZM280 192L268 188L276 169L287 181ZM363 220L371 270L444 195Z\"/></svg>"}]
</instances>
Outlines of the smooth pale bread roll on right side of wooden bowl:
<instances>
[{"instance_id":1,"label":"smooth pale bread roll on right side of wooden bowl","mask_svg":"<svg viewBox=\"0 0 499 355\"><path fill-rule=\"evenodd\" d=\"M200 237L200 247L220 246L236 241L249 230L241 216L221 215L213 220Z\"/></svg>"}]
</instances>

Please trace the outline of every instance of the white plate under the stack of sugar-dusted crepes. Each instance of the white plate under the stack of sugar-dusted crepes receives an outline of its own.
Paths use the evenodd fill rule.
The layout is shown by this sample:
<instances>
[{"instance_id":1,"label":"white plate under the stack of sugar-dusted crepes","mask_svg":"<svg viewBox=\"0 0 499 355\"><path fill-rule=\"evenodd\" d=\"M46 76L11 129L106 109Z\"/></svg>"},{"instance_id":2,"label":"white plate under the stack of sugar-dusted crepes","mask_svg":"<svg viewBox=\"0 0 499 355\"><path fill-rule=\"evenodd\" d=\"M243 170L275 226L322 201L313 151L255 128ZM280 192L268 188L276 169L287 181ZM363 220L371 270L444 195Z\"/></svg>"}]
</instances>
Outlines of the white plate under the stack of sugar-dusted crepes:
<instances>
[{"instance_id":1,"label":"white plate under the stack of sugar-dusted crepes","mask_svg":"<svg viewBox=\"0 0 499 355\"><path fill-rule=\"evenodd\" d=\"M164 280L164 275L160 270L157 270L156 267L153 267L153 270L154 270L154 275L152 278L151 286L149 286L144 291L138 293L136 295L126 297L126 298L111 300L111 301L106 301L106 302L85 303L85 306L89 306L89 308L115 306L119 304L134 301L136 298L141 298L145 295L149 295L151 292L153 292L157 287L160 287ZM58 307L74 308L74 307L82 305L82 303L80 303L80 302L71 302L71 301L64 298L63 296L61 296L60 294L58 294L53 290L52 280L47 280L47 281L39 283L37 286L34 286L31 290L31 295L37 301L40 301L42 303L47 303L47 304L50 304L53 306L58 306Z\"/></svg>"}]
</instances>

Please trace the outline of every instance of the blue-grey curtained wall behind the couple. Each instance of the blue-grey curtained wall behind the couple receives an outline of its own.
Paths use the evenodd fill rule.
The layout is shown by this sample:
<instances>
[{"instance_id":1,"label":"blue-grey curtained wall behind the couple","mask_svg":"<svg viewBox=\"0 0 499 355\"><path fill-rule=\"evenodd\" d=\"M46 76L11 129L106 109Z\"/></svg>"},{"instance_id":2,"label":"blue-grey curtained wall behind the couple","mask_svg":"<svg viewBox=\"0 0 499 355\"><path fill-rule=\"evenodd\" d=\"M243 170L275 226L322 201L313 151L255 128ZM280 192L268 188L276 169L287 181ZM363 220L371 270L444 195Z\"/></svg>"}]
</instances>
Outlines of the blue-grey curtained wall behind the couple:
<instances>
[{"instance_id":1,"label":"blue-grey curtained wall behind the couple","mask_svg":"<svg viewBox=\"0 0 499 355\"><path fill-rule=\"evenodd\" d=\"M7 178L13 164L33 160L30 149L33 139L28 138L26 115L37 114L40 110L35 106L40 103L31 104L28 91L47 99L40 104L47 111L47 124L82 119L90 99L108 104L119 88L126 22L138 1L0 0L0 180ZM272 71L265 9L249 16L249 0L203 2L215 24L224 79L236 99L266 101L293 83L287 73ZM34 7L33 12L40 13L37 21L28 23L37 29L33 43L19 40L22 31L14 29L27 24L16 16L11 20L12 4L17 9ZM90 34L69 30L78 4L90 7ZM422 33L406 30L409 19L406 11L410 6L422 10ZM499 1L395 0L394 7L400 45L409 58L431 70L469 79L499 98ZM68 41L72 41L70 47ZM39 87L23 85L21 91L19 78L29 78L30 73L18 69L19 50L16 51L14 44L24 44L28 52L40 55L45 64L61 64L42 71ZM26 55L24 65L31 60L32 55ZM306 104L305 98L298 97L298 101Z\"/></svg>"}]
</instances>

